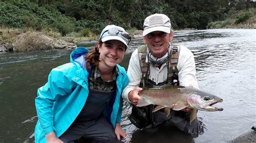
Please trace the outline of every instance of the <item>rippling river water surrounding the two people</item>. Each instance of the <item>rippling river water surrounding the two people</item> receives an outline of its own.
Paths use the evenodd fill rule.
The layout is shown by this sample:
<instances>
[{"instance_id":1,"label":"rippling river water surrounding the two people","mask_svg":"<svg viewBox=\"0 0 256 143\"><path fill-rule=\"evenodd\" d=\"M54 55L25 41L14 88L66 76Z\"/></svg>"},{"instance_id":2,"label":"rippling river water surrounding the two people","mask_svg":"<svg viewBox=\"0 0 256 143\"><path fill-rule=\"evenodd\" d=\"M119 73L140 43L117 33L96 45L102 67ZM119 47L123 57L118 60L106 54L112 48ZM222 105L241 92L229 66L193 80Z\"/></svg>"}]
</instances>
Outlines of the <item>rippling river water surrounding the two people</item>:
<instances>
[{"instance_id":1,"label":"rippling river water surrounding the two people","mask_svg":"<svg viewBox=\"0 0 256 143\"><path fill-rule=\"evenodd\" d=\"M199 111L207 129L192 138L171 125L155 133L139 131L127 119L131 108L125 103L122 127L127 137L123 141L226 142L249 132L256 125L255 33L246 29L177 31L173 42L193 52L200 89L223 98L215 106L224 111ZM120 65L127 69L131 53L142 44L141 38L133 39ZM34 141L36 91L52 68L69 62L71 51L0 53L0 142Z\"/></svg>"}]
</instances>

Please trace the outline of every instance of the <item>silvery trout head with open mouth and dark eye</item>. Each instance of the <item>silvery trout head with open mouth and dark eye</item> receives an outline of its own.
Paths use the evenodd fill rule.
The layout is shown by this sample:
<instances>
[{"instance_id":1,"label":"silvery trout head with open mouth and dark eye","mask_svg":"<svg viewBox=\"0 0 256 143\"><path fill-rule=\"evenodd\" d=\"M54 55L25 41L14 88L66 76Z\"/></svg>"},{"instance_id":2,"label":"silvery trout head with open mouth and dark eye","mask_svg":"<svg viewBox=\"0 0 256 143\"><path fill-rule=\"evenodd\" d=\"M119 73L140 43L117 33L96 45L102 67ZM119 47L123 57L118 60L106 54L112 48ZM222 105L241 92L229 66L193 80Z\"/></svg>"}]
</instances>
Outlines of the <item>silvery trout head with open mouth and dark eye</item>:
<instances>
[{"instance_id":1,"label":"silvery trout head with open mouth and dark eye","mask_svg":"<svg viewBox=\"0 0 256 143\"><path fill-rule=\"evenodd\" d=\"M223 102L223 99L211 94L199 95L194 93L187 98L187 103L192 109L203 111L223 111L223 108L212 106L219 102Z\"/></svg>"}]
</instances>

